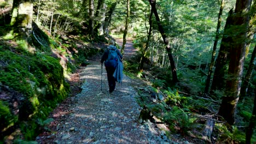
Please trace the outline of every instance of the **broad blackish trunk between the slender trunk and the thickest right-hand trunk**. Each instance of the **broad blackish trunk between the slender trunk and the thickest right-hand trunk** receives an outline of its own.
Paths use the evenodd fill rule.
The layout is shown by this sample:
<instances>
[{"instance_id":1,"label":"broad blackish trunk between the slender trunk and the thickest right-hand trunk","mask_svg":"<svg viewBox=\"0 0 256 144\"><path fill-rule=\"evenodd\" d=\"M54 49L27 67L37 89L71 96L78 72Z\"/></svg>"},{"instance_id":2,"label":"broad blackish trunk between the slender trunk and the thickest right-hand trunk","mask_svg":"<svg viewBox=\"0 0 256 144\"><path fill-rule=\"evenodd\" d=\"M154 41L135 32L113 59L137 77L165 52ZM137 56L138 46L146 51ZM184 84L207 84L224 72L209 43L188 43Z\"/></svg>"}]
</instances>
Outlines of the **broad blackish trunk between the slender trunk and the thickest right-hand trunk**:
<instances>
[{"instance_id":1,"label":"broad blackish trunk between the slender trunk and the thickest right-hand trunk","mask_svg":"<svg viewBox=\"0 0 256 144\"><path fill-rule=\"evenodd\" d=\"M231 9L229 11L228 17L226 18L226 25L224 27L222 43L220 44L219 54L216 59L216 68L212 79L211 92L215 90L222 90L225 86L225 73L228 69L227 67L229 62L229 43L232 39L229 35L230 27L232 25L232 14L233 10Z\"/></svg>"}]
</instances>

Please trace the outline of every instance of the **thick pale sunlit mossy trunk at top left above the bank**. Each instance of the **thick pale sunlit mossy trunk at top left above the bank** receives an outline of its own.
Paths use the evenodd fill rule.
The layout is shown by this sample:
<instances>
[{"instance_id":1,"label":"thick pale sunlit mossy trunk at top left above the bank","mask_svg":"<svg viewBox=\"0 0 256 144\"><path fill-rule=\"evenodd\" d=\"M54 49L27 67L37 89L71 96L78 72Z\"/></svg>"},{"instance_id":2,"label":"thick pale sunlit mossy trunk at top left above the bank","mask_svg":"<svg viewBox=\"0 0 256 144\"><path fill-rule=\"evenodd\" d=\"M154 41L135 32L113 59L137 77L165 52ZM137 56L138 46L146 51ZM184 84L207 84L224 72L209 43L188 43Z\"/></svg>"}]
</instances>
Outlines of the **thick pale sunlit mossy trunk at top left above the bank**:
<instances>
[{"instance_id":1,"label":"thick pale sunlit mossy trunk at top left above the bank","mask_svg":"<svg viewBox=\"0 0 256 144\"><path fill-rule=\"evenodd\" d=\"M34 51L34 49L30 47L30 45L32 44L32 16L32 0L13 1L13 12L10 25L14 28L14 35L18 34L19 39L25 40L28 46L28 50L31 52Z\"/></svg>"}]
</instances>

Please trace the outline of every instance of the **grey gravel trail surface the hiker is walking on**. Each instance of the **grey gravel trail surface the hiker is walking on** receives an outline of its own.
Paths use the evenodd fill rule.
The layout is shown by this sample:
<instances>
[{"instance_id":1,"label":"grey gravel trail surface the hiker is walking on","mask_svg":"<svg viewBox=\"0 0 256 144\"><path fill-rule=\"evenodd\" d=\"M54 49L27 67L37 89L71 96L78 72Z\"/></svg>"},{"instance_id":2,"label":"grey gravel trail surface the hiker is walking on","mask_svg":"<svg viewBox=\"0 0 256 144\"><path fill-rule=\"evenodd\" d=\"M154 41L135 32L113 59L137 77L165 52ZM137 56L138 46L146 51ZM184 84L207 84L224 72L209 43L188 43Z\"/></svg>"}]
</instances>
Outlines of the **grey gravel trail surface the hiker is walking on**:
<instances>
[{"instance_id":1,"label":"grey gravel trail surface the hiker is walking on","mask_svg":"<svg viewBox=\"0 0 256 144\"><path fill-rule=\"evenodd\" d=\"M50 133L37 137L39 143L170 143L153 123L138 122L141 107L136 103L136 83L124 75L123 85L108 93L107 73L101 63L78 71L82 91L68 98L51 114ZM77 80L78 81L78 80ZM75 86L74 86L75 87Z\"/></svg>"}]
</instances>

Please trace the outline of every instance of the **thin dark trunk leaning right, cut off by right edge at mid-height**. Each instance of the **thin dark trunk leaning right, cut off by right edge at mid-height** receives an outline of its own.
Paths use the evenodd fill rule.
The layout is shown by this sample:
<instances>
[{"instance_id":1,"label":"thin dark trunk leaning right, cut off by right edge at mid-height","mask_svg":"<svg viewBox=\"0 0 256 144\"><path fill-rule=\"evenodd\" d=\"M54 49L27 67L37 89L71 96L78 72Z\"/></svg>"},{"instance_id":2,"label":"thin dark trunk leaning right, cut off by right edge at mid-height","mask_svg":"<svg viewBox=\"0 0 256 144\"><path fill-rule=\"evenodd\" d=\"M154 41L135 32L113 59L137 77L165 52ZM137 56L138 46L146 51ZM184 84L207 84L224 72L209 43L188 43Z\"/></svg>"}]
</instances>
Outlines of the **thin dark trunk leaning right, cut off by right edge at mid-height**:
<instances>
[{"instance_id":1,"label":"thin dark trunk leaning right, cut off by right edge at mid-height","mask_svg":"<svg viewBox=\"0 0 256 144\"><path fill-rule=\"evenodd\" d=\"M249 81L252 77L253 69L255 68L255 64L254 64L255 56L256 56L256 45L255 45L253 53L252 53L251 61L249 63L249 68L247 70L245 79L243 80L243 83L242 83L241 92L240 92L240 99L243 99L243 98L246 97L246 92L247 92L247 88L249 86Z\"/></svg>"}]
</instances>

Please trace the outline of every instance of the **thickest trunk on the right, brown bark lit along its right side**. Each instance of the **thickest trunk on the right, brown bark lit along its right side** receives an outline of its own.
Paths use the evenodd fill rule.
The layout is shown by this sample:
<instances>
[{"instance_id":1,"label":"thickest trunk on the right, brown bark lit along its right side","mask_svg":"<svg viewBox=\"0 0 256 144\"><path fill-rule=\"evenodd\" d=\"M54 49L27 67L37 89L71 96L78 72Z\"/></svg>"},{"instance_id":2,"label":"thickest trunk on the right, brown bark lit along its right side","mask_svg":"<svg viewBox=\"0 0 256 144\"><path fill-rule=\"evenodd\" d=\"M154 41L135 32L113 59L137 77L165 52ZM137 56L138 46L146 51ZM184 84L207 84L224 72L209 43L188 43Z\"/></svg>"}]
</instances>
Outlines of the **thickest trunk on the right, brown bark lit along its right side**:
<instances>
[{"instance_id":1,"label":"thickest trunk on the right, brown bark lit along its right side","mask_svg":"<svg viewBox=\"0 0 256 144\"><path fill-rule=\"evenodd\" d=\"M248 11L252 0L237 0L232 25L239 27L240 31L232 31L230 61L228 77L226 78L225 94L219 108L219 115L224 117L229 124L235 122L236 104L239 99L243 64L245 62L246 38L249 24Z\"/></svg>"}]
</instances>

